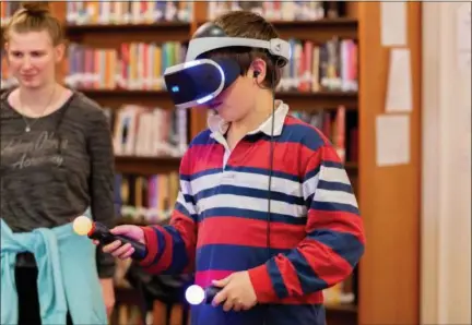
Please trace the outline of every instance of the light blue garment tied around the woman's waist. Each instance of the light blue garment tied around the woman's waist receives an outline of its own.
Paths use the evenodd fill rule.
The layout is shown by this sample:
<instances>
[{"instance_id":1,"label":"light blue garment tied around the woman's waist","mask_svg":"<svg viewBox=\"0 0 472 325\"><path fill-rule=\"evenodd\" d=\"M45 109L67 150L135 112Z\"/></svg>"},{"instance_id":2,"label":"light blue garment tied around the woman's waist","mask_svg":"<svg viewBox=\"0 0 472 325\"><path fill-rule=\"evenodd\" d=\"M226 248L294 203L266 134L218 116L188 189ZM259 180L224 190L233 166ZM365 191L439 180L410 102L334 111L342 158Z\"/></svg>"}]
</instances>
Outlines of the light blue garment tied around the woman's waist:
<instances>
[{"instance_id":1,"label":"light blue garment tied around the woman's waist","mask_svg":"<svg viewBox=\"0 0 472 325\"><path fill-rule=\"evenodd\" d=\"M90 217L90 212L85 214ZM95 262L95 245L71 224L13 232L1 219L1 324L17 324L14 268L16 254L33 253L38 267L43 324L107 324Z\"/></svg>"}]
</instances>

